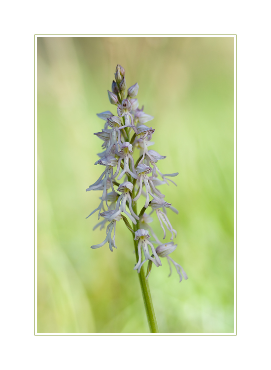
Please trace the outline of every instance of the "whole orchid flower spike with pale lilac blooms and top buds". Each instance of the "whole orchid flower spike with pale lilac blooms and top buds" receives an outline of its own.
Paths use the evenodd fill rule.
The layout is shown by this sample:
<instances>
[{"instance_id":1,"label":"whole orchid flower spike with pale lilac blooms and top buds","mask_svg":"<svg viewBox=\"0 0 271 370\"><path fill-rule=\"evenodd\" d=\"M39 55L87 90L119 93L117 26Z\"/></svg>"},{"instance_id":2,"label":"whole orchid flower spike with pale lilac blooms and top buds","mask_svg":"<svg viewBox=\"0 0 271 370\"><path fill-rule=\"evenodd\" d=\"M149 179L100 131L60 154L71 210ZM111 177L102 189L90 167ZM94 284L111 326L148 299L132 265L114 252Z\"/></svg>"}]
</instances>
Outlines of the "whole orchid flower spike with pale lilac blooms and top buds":
<instances>
[{"instance_id":1,"label":"whole orchid flower spike with pale lilac blooms and top buds","mask_svg":"<svg viewBox=\"0 0 271 370\"><path fill-rule=\"evenodd\" d=\"M152 264L154 263L159 267L162 265L160 257L166 257L176 267L181 281L182 275L184 279L187 279L187 275L183 268L169 257L169 254L177 247L172 241L174 236L176 237L177 232L169 221L167 208L175 213L178 213L178 211L171 206L171 203L165 201L165 195L157 189L159 185L169 185L168 181L176 185L169 178L177 176L178 173L163 174L159 170L157 162L166 157L155 150L148 149L149 146L154 144L151 142L151 139L155 129L145 125L154 117L145 113L143 107L142 109L138 108L138 101L135 98L138 92L137 83L128 89L127 95L125 90L125 70L122 66L117 65L112 91L108 91L110 103L117 107L117 115L114 115L111 111L97 114L99 118L105 120L105 124L102 132L94 134L103 141L103 151L98 153L100 159L95 162L95 165L105 166L105 170L99 179L86 189L86 191L102 190L100 205L88 216L90 217L99 211L98 220L100 216L103 218L103 221L99 222L94 229L98 226L102 229L106 222L109 222L109 224L106 228L104 241L101 244L93 245L91 248L100 248L107 242L109 243L110 251L113 251L112 247L117 248L115 243L116 222L123 220L133 233L134 240L138 240L138 261L134 270L137 270L139 273L143 263L148 260L148 277ZM133 157L135 148L140 151L137 161ZM118 183L116 180L123 182ZM114 185L117 186L116 189ZM144 190L143 186L145 187ZM108 193L108 189L112 191ZM142 196L146 198L144 207L137 215L135 213L136 208L133 209L133 205ZM148 207L151 208L149 214L145 212ZM154 211L164 233L163 239L167 236L165 226L170 231L171 241L169 243L161 243L149 225L153 221L150 215ZM133 230L126 216L137 226L137 229L135 227ZM111 237L112 231L114 231L113 237ZM150 234L154 238L153 242L149 240ZM158 247L155 249L153 244L158 244ZM141 248L144 259L142 258ZM171 274L170 263L169 267Z\"/></svg>"}]
</instances>

